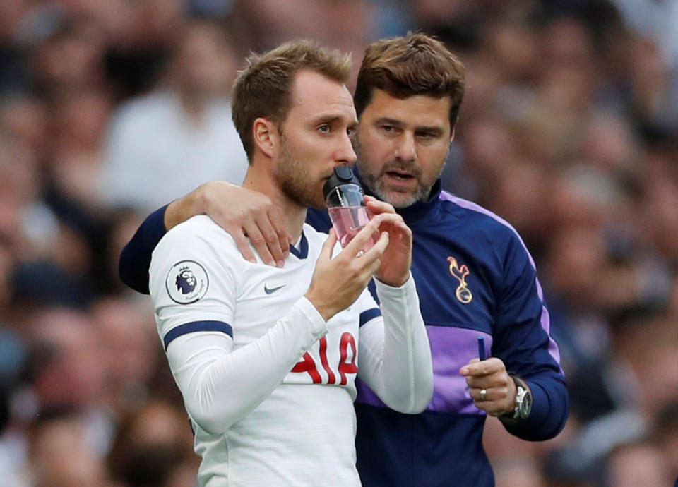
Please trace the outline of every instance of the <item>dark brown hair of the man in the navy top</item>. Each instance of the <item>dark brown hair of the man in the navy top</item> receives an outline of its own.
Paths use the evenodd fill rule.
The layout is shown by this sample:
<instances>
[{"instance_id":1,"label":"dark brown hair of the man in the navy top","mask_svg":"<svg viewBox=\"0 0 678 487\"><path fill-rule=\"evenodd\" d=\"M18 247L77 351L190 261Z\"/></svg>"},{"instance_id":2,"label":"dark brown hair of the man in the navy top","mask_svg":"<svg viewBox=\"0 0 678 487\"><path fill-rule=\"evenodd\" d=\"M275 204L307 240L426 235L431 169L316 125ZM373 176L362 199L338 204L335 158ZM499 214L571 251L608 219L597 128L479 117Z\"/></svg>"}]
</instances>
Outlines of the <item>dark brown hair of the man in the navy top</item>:
<instances>
[{"instance_id":1,"label":"dark brown hair of the man in the navy top","mask_svg":"<svg viewBox=\"0 0 678 487\"><path fill-rule=\"evenodd\" d=\"M408 32L373 42L365 51L355 88L358 117L369 104L374 88L399 99L414 95L449 97L450 126L454 127L464 97L465 69L442 42Z\"/></svg>"}]
</instances>

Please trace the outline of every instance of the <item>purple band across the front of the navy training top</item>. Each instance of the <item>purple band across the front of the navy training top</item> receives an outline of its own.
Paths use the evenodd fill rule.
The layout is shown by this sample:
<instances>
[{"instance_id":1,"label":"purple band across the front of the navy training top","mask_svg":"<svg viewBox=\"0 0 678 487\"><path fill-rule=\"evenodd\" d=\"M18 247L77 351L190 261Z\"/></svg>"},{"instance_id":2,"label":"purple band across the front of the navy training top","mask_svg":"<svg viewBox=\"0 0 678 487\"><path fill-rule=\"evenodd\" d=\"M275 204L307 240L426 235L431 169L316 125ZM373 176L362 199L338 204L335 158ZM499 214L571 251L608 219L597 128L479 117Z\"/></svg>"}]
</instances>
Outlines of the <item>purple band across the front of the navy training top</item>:
<instances>
[{"instance_id":1,"label":"purple band across the front of the navy training top","mask_svg":"<svg viewBox=\"0 0 678 487\"><path fill-rule=\"evenodd\" d=\"M459 369L477 359L477 337L484 337L485 352L491 356L492 336L477 330L428 325L426 330L433 357L433 398L427 411L456 414L485 414L475 404ZM357 402L386 407L362 381L357 381Z\"/></svg>"}]
</instances>

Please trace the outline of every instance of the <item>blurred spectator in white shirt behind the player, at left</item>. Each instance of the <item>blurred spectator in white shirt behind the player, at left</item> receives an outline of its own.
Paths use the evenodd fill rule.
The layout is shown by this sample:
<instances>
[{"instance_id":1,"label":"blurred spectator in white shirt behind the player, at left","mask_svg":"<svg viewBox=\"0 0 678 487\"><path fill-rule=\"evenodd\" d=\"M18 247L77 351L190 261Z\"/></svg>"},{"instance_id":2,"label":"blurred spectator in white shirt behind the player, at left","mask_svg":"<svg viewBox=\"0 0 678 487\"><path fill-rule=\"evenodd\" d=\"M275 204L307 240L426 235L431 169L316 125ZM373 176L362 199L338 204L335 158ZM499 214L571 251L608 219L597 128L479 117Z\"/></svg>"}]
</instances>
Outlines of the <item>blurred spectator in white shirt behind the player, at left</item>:
<instances>
[{"instance_id":1,"label":"blurred spectator in white shirt behind the player, at left","mask_svg":"<svg viewBox=\"0 0 678 487\"><path fill-rule=\"evenodd\" d=\"M167 86L112 116L99 184L109 205L146 211L211 179L242 182L247 164L227 98L239 61L218 25L196 20L183 30Z\"/></svg>"}]
</instances>

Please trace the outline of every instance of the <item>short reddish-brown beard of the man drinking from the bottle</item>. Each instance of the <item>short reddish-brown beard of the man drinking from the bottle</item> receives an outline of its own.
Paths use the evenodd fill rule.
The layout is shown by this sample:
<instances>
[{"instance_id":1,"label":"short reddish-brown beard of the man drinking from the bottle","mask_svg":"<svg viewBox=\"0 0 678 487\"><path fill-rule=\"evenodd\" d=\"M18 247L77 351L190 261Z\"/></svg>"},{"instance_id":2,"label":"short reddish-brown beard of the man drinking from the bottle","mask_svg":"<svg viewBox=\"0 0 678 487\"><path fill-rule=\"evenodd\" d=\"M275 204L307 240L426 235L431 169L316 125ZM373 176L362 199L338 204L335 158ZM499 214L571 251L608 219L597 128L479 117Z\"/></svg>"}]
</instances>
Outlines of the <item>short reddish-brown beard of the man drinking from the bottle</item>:
<instances>
[{"instance_id":1,"label":"short reddish-brown beard of the man drinking from the bottle","mask_svg":"<svg viewBox=\"0 0 678 487\"><path fill-rule=\"evenodd\" d=\"M280 156L273 175L287 198L307 208L324 209L325 201L316 181L309 181L308 168L292 153L285 136L280 137Z\"/></svg>"}]
</instances>

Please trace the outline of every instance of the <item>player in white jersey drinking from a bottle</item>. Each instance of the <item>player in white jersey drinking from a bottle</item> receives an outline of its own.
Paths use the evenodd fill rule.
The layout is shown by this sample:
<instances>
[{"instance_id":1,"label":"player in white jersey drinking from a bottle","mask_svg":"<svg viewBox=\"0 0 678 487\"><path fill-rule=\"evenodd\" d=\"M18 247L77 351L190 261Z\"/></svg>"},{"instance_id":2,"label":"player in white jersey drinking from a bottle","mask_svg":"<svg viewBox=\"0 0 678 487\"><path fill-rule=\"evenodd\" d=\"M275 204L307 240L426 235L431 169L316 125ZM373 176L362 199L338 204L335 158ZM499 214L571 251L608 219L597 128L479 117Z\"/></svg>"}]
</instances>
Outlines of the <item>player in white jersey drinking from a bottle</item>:
<instances>
[{"instance_id":1,"label":"player in white jersey drinking from a bottle","mask_svg":"<svg viewBox=\"0 0 678 487\"><path fill-rule=\"evenodd\" d=\"M356 375L397 411L418 413L432 396L412 233L374 198L376 216L343 251L333 231L304 224L333 169L355 162L350 58L296 41L248 61L233 92L243 186L283 208L295 244L270 267L244 260L209 217L177 225L150 265L157 329L201 486L358 486ZM381 310L366 289L373 275Z\"/></svg>"}]
</instances>

